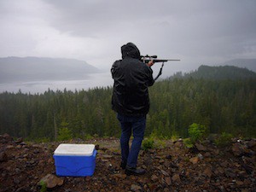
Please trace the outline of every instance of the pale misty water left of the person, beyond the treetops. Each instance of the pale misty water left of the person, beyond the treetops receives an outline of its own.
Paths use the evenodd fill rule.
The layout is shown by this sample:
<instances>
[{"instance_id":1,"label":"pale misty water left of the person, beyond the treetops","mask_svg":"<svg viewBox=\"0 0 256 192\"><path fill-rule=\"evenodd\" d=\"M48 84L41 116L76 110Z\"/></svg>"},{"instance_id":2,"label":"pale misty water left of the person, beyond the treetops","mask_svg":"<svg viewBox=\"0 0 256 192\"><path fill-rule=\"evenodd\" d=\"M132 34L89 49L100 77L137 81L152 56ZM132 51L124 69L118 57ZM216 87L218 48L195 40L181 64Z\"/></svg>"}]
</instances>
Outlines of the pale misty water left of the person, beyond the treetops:
<instances>
[{"instance_id":1,"label":"pale misty water left of the person, beyond the treetops","mask_svg":"<svg viewBox=\"0 0 256 192\"><path fill-rule=\"evenodd\" d=\"M44 80L44 81L29 81L29 82L15 82L15 83L0 83L0 93L18 92L22 93L44 93L47 90L88 90L96 87L107 87L113 85L111 73L93 73L90 74L89 79L75 79L75 80Z\"/></svg>"}]
</instances>

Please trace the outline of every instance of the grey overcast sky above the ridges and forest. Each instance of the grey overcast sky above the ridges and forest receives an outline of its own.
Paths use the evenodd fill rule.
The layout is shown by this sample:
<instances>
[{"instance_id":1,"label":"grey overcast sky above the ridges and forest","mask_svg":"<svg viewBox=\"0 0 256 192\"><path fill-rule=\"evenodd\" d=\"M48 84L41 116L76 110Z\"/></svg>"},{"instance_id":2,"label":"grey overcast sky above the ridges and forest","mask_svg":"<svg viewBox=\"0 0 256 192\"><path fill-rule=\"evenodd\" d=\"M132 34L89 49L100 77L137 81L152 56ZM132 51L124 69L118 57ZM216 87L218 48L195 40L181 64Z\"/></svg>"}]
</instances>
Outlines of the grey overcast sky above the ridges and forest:
<instances>
[{"instance_id":1,"label":"grey overcast sky above the ridges and forest","mask_svg":"<svg viewBox=\"0 0 256 192\"><path fill-rule=\"evenodd\" d=\"M108 69L132 42L143 55L188 68L256 58L255 0L0 0L0 26L0 57L73 58Z\"/></svg>"}]
</instances>

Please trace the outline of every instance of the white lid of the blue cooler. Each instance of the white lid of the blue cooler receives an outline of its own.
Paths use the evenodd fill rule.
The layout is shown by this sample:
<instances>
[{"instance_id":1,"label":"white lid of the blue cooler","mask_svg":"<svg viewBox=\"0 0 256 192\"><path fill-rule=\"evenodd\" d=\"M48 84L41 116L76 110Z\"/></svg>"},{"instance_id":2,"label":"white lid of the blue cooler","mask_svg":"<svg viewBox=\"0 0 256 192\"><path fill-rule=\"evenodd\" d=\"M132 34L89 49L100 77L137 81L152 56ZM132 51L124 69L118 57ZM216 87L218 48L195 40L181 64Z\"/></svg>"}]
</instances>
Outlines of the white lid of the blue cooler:
<instances>
[{"instance_id":1,"label":"white lid of the blue cooler","mask_svg":"<svg viewBox=\"0 0 256 192\"><path fill-rule=\"evenodd\" d=\"M95 149L94 144L62 143L55 149L55 155L90 156Z\"/></svg>"}]
</instances>

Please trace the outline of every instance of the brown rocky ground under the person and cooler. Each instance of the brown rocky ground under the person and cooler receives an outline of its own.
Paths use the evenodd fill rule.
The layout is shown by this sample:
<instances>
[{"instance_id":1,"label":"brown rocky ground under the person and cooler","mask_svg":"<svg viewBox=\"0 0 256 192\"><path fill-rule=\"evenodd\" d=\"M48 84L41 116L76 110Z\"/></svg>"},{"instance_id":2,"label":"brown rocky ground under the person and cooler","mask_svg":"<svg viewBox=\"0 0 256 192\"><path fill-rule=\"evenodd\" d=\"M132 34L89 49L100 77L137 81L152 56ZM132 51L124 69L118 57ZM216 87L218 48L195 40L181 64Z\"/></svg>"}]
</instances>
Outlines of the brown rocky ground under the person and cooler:
<instances>
[{"instance_id":1,"label":"brown rocky ground under the person and cooler","mask_svg":"<svg viewBox=\"0 0 256 192\"><path fill-rule=\"evenodd\" d=\"M143 176L126 176L119 168L118 139L73 143L98 145L92 177L55 175L53 154L60 143L25 143L1 135L0 191L256 191L255 139L234 139L223 148L206 140L192 149L182 140L166 141L141 152L138 166L147 170Z\"/></svg>"}]
</instances>

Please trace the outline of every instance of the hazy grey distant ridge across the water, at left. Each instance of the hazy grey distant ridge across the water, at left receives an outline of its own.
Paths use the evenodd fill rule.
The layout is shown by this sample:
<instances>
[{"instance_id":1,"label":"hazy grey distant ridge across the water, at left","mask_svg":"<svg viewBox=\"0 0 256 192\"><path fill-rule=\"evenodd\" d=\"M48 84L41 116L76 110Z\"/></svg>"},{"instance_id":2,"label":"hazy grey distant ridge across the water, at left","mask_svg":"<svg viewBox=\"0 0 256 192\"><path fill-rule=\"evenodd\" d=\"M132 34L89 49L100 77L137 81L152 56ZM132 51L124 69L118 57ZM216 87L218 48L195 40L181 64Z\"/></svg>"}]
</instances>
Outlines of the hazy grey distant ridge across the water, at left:
<instances>
[{"instance_id":1,"label":"hazy grey distant ridge across the water, at left","mask_svg":"<svg viewBox=\"0 0 256 192\"><path fill-rule=\"evenodd\" d=\"M75 59L48 57L0 58L0 83L85 79L100 70Z\"/></svg>"}]
</instances>

